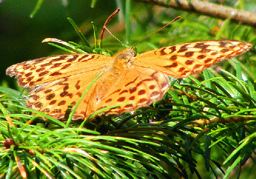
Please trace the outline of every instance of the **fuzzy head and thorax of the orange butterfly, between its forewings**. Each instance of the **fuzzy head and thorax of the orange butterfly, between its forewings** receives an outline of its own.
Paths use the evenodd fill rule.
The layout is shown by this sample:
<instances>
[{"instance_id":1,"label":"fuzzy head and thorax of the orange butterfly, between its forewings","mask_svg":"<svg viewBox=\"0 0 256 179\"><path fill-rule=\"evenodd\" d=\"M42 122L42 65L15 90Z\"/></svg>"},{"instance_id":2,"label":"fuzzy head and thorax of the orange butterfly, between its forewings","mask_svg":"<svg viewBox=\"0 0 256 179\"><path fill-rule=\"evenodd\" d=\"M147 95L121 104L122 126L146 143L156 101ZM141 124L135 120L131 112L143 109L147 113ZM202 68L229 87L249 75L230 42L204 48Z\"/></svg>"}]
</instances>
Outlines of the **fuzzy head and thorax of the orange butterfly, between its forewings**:
<instances>
[{"instance_id":1,"label":"fuzzy head and thorax of the orange butterfly, between its forewings","mask_svg":"<svg viewBox=\"0 0 256 179\"><path fill-rule=\"evenodd\" d=\"M133 48L125 49L117 53L114 58L112 69L115 74L120 74L124 69L130 67L133 63L133 57L136 56Z\"/></svg>"}]
</instances>

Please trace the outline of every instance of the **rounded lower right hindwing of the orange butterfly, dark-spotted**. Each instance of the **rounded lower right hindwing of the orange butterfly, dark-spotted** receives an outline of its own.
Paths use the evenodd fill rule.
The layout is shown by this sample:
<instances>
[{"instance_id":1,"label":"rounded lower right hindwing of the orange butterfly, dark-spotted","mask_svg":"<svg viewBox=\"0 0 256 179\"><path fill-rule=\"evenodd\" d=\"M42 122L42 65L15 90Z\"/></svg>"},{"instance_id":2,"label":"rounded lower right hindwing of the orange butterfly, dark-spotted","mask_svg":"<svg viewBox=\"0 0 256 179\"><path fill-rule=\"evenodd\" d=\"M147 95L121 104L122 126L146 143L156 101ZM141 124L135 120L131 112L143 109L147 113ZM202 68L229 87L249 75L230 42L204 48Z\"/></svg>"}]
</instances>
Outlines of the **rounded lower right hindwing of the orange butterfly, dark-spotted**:
<instances>
[{"instance_id":1,"label":"rounded lower right hindwing of the orange butterfly, dark-spotted","mask_svg":"<svg viewBox=\"0 0 256 179\"><path fill-rule=\"evenodd\" d=\"M102 101L96 105L95 111L116 105L117 107L104 113L121 114L134 111L161 100L169 88L167 75L147 67L131 67L116 79L112 89L109 89Z\"/></svg>"}]
</instances>

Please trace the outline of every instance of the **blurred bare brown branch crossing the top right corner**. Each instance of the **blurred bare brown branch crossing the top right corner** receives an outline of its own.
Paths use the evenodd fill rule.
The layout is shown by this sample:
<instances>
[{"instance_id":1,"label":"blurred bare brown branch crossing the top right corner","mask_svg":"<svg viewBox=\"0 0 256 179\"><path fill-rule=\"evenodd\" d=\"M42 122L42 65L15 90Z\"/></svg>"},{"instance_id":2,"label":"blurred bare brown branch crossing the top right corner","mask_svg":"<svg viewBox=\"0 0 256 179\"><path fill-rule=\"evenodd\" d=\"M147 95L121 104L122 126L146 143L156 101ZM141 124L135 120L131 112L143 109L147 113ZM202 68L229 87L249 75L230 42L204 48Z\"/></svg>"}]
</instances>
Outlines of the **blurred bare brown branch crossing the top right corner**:
<instances>
[{"instance_id":1,"label":"blurred bare brown branch crossing the top right corner","mask_svg":"<svg viewBox=\"0 0 256 179\"><path fill-rule=\"evenodd\" d=\"M248 11L233 9L230 7L209 3L206 0L170 0L167 4L166 0L137 0L151 2L159 6L172 7L177 10L184 10L207 16L227 19L230 18L234 22L247 24L256 27L256 14Z\"/></svg>"}]
</instances>

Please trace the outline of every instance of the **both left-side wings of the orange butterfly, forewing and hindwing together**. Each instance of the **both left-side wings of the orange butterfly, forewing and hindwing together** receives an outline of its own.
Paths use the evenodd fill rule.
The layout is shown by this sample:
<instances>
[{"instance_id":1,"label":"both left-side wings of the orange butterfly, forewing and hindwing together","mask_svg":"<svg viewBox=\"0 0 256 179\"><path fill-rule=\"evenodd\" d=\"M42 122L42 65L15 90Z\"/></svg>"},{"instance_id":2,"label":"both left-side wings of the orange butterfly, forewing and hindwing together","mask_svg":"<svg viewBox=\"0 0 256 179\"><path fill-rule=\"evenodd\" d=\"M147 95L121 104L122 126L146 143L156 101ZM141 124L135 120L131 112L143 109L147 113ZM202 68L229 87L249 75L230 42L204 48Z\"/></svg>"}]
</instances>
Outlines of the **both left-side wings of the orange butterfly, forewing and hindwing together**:
<instances>
[{"instance_id":1,"label":"both left-side wings of the orange butterfly, forewing and hindwing together","mask_svg":"<svg viewBox=\"0 0 256 179\"><path fill-rule=\"evenodd\" d=\"M22 87L38 86L29 93L31 98L26 105L61 120L68 106L76 104L93 79L102 70L109 70L111 60L111 56L94 54L49 56L12 65L6 74L16 75ZM82 108L87 108L86 103L73 119L84 117L80 114Z\"/></svg>"}]
</instances>

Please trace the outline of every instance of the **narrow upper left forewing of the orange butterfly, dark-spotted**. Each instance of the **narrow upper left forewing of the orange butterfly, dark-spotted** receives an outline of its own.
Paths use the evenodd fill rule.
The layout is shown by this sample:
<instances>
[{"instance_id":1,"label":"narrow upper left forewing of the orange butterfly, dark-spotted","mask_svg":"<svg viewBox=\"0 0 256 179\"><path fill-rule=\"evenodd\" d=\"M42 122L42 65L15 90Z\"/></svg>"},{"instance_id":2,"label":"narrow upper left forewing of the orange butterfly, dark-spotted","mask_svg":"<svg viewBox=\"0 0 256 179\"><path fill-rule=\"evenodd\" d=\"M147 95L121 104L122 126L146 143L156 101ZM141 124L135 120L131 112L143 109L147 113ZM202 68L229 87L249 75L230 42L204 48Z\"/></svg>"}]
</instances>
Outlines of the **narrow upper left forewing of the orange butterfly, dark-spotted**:
<instances>
[{"instance_id":1,"label":"narrow upper left forewing of the orange butterfly, dark-spotted","mask_svg":"<svg viewBox=\"0 0 256 179\"><path fill-rule=\"evenodd\" d=\"M96 54L68 54L38 58L8 67L6 74L16 75L18 84L28 88L79 73L109 66L110 56ZM85 68L87 67L87 68Z\"/></svg>"}]
</instances>

